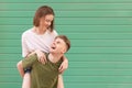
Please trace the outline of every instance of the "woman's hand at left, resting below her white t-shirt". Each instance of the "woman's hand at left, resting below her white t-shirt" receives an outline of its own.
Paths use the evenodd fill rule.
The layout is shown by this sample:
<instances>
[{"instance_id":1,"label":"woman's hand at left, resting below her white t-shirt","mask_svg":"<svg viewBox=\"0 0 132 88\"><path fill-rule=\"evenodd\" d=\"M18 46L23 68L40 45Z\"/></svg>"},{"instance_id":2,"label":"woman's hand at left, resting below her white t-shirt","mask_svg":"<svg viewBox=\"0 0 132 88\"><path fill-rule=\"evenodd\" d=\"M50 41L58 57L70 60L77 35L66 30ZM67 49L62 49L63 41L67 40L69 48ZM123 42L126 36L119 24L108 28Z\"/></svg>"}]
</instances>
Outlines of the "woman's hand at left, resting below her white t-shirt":
<instances>
[{"instance_id":1,"label":"woman's hand at left, resting below her white t-shirt","mask_svg":"<svg viewBox=\"0 0 132 88\"><path fill-rule=\"evenodd\" d=\"M45 54L38 50L36 50L35 53L37 55L37 61L41 62L42 64L45 64L46 63Z\"/></svg>"}]
</instances>

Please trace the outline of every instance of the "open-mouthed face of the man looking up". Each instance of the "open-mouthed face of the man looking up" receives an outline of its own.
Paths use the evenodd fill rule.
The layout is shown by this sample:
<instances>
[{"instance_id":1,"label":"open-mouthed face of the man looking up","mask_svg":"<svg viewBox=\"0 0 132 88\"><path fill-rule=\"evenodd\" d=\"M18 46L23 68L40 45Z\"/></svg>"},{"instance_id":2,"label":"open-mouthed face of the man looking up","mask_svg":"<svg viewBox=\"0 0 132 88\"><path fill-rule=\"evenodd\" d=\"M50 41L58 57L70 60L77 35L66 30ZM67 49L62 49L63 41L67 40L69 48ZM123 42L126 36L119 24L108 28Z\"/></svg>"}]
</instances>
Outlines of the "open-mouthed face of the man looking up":
<instances>
[{"instance_id":1,"label":"open-mouthed face of the man looking up","mask_svg":"<svg viewBox=\"0 0 132 88\"><path fill-rule=\"evenodd\" d=\"M65 53L66 52L65 42L59 37L55 38L55 41L53 42L53 44L51 46L50 52L51 53L59 53L59 54Z\"/></svg>"}]
</instances>

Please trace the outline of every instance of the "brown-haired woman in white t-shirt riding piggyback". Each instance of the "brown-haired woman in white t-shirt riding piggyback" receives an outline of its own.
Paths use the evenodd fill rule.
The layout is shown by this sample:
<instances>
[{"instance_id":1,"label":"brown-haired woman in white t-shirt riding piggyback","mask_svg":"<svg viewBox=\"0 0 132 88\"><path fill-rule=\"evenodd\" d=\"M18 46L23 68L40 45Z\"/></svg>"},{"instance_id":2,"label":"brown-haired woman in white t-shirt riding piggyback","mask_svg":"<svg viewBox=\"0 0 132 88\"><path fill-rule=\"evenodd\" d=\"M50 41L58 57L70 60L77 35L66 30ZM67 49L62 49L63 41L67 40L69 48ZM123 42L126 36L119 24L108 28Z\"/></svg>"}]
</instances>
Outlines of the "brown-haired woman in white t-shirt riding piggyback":
<instances>
[{"instance_id":1,"label":"brown-haired woman in white t-shirt riding piggyback","mask_svg":"<svg viewBox=\"0 0 132 88\"><path fill-rule=\"evenodd\" d=\"M23 57L29 56L32 52L37 51L37 58L41 63L46 63L46 58L43 52L48 53L50 46L54 41L57 32L54 30L54 11L51 7L43 6L36 10L33 28L25 31L22 34L22 55ZM59 67L59 72L63 73L68 67L68 61L64 56L64 62ZM18 63L18 69L20 68ZM19 70L21 73L21 70ZM23 77L22 88L30 88L30 73L21 73ZM64 88L63 78L58 76L58 88Z\"/></svg>"}]
</instances>

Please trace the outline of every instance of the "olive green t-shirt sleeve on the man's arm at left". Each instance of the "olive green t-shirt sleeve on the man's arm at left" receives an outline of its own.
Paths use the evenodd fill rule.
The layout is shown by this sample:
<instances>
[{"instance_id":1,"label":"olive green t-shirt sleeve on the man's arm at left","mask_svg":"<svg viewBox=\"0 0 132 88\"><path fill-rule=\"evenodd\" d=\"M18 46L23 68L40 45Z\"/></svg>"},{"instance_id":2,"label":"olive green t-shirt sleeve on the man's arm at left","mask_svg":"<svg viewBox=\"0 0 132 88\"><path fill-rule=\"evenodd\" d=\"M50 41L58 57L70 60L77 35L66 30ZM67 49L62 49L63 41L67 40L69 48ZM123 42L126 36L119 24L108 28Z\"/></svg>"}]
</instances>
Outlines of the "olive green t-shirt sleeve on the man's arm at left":
<instances>
[{"instance_id":1,"label":"olive green t-shirt sleeve on the man's arm at left","mask_svg":"<svg viewBox=\"0 0 132 88\"><path fill-rule=\"evenodd\" d=\"M22 66L23 66L23 68L32 67L32 65L35 62L37 62L37 55L36 54L28 56L26 58L24 58L22 61Z\"/></svg>"}]
</instances>

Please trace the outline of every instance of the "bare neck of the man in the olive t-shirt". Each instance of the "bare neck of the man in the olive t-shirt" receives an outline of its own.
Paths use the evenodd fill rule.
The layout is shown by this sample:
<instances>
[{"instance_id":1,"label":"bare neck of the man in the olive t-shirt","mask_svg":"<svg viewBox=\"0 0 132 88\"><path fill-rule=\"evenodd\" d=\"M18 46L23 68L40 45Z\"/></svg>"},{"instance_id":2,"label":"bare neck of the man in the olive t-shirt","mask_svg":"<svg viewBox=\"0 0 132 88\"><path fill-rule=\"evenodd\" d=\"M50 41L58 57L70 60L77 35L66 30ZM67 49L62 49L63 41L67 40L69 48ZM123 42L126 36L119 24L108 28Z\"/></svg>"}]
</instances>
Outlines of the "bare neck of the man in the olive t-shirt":
<instances>
[{"instance_id":1,"label":"bare neck of the man in the olive t-shirt","mask_svg":"<svg viewBox=\"0 0 132 88\"><path fill-rule=\"evenodd\" d=\"M48 59L52 63L57 63L62 58L62 56L63 56L63 54L52 54L52 53L50 53Z\"/></svg>"}]
</instances>

